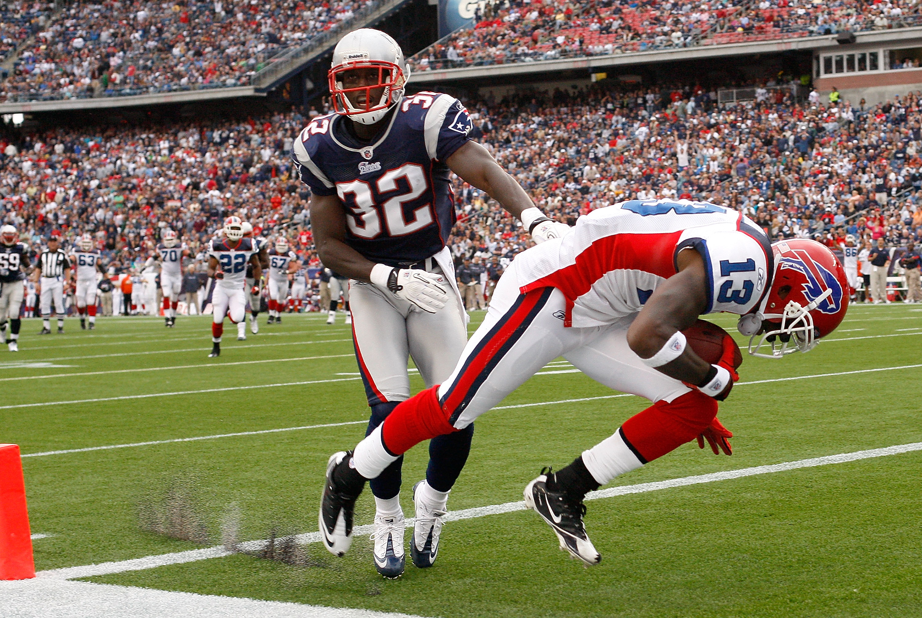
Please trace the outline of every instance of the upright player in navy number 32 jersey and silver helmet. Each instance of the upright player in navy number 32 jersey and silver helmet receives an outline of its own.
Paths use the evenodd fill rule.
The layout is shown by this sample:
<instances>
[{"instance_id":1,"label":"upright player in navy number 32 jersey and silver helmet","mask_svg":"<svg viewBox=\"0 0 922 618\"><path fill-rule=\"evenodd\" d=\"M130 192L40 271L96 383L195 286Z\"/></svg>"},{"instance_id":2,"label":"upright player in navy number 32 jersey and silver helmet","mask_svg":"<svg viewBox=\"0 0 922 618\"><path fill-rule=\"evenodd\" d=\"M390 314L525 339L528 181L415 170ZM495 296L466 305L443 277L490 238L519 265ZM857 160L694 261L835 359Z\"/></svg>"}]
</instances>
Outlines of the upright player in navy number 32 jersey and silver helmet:
<instances>
[{"instance_id":1,"label":"upright player in navy number 32 jersey and silver helmet","mask_svg":"<svg viewBox=\"0 0 922 618\"><path fill-rule=\"evenodd\" d=\"M335 113L314 118L301 131L294 159L312 189L320 259L351 279L353 342L372 433L409 398L409 356L426 386L438 385L467 342L467 314L445 246L455 224L451 172L485 191L536 238L550 238L567 226L545 217L490 152L471 140L473 125L460 101L438 92L405 96L409 67L384 32L361 29L344 36L328 77ZM431 441L426 479L413 489L410 555L418 567L435 561L448 493L472 435L468 424ZM337 458L331 467L344 456ZM386 468L372 481L373 557L380 574L396 577L406 562L401 459ZM327 493L325 500L335 504L349 499L333 486ZM334 541L341 525L336 513L321 514L325 547L332 553L343 551Z\"/></svg>"}]
</instances>

